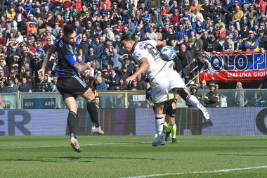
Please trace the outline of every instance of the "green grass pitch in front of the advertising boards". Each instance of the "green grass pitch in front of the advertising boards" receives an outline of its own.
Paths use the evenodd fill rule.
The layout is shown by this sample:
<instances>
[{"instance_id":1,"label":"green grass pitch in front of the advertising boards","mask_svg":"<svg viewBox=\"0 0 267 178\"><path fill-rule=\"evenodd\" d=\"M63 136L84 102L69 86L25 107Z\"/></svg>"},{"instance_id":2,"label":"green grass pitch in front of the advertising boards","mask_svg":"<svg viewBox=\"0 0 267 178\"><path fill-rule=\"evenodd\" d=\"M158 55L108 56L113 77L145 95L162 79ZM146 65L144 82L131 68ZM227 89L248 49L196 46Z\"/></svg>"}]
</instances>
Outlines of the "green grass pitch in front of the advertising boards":
<instances>
[{"instance_id":1,"label":"green grass pitch in front of the advertising boards","mask_svg":"<svg viewBox=\"0 0 267 178\"><path fill-rule=\"evenodd\" d=\"M1 136L0 177L267 177L267 136Z\"/></svg>"}]
</instances>

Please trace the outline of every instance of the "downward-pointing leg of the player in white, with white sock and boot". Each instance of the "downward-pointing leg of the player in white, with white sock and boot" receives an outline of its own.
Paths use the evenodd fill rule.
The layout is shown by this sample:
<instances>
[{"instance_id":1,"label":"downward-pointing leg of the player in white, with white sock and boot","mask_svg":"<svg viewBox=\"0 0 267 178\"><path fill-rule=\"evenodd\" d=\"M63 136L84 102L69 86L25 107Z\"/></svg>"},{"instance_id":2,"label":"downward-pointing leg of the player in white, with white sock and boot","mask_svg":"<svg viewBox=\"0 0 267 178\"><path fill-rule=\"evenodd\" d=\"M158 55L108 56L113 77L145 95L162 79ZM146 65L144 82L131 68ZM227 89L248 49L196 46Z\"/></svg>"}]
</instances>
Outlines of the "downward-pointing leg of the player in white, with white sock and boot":
<instances>
[{"instance_id":1,"label":"downward-pointing leg of the player in white, with white sock and boot","mask_svg":"<svg viewBox=\"0 0 267 178\"><path fill-rule=\"evenodd\" d=\"M163 124L164 124L164 115L163 115L163 103L155 103L155 127L157 132L157 139L152 142L152 146L164 145L166 144L163 139Z\"/></svg>"}]
</instances>

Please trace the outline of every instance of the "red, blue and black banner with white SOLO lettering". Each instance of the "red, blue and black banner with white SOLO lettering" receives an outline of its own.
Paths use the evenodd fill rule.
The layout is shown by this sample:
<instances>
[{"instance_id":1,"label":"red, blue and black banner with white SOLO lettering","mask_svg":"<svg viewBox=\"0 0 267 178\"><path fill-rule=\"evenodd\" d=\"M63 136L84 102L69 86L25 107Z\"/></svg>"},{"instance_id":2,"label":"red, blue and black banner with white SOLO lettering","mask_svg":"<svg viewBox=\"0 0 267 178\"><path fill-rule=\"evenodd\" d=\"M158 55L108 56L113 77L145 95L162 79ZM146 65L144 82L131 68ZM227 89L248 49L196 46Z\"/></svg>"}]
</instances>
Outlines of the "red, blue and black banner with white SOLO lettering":
<instances>
[{"instance_id":1,"label":"red, blue and black banner with white SOLO lettering","mask_svg":"<svg viewBox=\"0 0 267 178\"><path fill-rule=\"evenodd\" d=\"M203 53L204 67L200 80L252 81L263 80L267 75L267 53Z\"/></svg>"}]
</instances>

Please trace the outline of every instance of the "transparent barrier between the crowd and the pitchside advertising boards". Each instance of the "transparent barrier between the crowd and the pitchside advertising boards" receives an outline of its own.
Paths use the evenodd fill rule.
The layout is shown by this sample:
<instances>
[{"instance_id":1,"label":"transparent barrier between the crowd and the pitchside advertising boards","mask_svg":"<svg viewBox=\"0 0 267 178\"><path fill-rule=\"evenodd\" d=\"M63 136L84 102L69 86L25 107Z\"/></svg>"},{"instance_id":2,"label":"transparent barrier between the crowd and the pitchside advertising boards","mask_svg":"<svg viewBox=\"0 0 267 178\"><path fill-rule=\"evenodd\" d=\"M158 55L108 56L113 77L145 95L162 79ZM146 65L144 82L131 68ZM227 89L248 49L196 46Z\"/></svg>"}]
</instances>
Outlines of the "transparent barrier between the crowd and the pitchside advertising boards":
<instances>
[{"instance_id":1,"label":"transparent barrier between the crowd and the pitchside advertising boards","mask_svg":"<svg viewBox=\"0 0 267 178\"><path fill-rule=\"evenodd\" d=\"M209 90L198 91L204 96ZM267 89L221 89L218 90L220 107L266 107ZM100 98L99 108L148 108L145 91L95 91ZM58 92L1 94L5 109L62 109L66 108ZM86 108L84 98L77 98L78 108ZM185 101L179 98L176 106L186 108Z\"/></svg>"}]
</instances>

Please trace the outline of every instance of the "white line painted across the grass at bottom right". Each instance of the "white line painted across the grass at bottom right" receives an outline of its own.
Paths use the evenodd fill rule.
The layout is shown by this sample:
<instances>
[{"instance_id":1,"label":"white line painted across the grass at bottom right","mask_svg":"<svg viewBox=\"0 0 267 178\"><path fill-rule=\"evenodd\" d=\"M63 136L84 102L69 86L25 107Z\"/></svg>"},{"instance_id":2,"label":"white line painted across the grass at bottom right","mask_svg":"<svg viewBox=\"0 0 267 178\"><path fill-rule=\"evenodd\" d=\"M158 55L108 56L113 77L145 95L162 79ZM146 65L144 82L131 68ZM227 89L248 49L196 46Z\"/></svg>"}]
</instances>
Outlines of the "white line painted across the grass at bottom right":
<instances>
[{"instance_id":1,"label":"white line painted across the grass at bottom right","mask_svg":"<svg viewBox=\"0 0 267 178\"><path fill-rule=\"evenodd\" d=\"M141 175L134 177L123 177L123 178L146 178L146 177L164 177L169 175L182 175L182 174L207 174L207 173L216 173L216 172L233 172L239 170L259 170L267 168L267 165L257 166L257 167L243 167L243 168L234 168L226 170L210 170L210 171L200 171L200 172L177 172L177 173L166 173L166 174L150 174L150 175Z\"/></svg>"}]
</instances>

